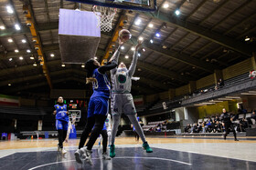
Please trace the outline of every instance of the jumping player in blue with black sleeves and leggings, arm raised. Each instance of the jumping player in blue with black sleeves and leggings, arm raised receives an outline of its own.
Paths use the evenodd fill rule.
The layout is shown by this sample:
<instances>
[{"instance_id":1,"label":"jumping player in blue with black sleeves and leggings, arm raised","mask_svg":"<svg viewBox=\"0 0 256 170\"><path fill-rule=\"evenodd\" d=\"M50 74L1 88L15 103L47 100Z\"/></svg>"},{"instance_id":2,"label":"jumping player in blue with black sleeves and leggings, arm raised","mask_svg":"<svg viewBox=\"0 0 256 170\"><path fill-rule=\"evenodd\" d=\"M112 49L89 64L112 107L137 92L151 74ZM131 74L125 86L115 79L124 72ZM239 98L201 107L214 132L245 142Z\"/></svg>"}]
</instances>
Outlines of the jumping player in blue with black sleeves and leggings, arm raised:
<instances>
[{"instance_id":1,"label":"jumping player in blue with black sleeves and leggings, arm raised","mask_svg":"<svg viewBox=\"0 0 256 170\"><path fill-rule=\"evenodd\" d=\"M90 59L86 62L85 68L87 70L87 83L92 83L93 94L91 95L88 105L87 124L80 137L79 149L75 152L76 161L81 162L81 155L86 156L86 161L92 165L91 162L91 148L101 133L104 122L107 118L109 105L108 100L111 93L111 85L107 78L106 72L112 70L117 66L115 61L116 57L120 55L120 46L123 42L119 41L119 47L112 55L112 58L107 65L100 65L100 63L94 59ZM92 127L95 125L93 130ZM88 135L91 133L90 139L87 143L87 147L83 147Z\"/></svg>"}]
</instances>

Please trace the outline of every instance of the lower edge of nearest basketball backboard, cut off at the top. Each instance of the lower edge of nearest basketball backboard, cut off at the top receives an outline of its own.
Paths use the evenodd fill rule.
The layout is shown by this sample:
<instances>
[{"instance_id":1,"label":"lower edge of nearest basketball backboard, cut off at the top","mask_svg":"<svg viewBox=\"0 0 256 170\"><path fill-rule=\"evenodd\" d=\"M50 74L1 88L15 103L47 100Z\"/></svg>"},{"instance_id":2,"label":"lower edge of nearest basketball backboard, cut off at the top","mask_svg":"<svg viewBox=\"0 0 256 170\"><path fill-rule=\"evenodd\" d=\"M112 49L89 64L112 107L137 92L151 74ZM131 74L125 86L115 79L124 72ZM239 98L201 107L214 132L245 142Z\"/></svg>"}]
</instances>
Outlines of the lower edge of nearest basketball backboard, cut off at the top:
<instances>
[{"instance_id":1,"label":"lower edge of nearest basketball backboard, cut off at the top","mask_svg":"<svg viewBox=\"0 0 256 170\"><path fill-rule=\"evenodd\" d=\"M156 0L68 0L89 5L101 5L106 7L130 9L138 11L155 11Z\"/></svg>"}]
</instances>

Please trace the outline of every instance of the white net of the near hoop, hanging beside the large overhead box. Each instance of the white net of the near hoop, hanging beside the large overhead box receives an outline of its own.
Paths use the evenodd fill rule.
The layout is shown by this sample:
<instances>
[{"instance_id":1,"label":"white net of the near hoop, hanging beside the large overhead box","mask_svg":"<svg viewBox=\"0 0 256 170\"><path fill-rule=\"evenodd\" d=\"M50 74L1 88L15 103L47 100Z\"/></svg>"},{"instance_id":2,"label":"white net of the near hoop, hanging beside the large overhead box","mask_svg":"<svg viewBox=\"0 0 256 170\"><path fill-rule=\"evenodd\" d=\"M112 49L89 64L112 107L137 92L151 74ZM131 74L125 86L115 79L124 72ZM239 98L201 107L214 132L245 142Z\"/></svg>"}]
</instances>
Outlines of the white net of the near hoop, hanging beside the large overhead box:
<instances>
[{"instance_id":1,"label":"white net of the near hoop, hanging beside the large overhead box","mask_svg":"<svg viewBox=\"0 0 256 170\"><path fill-rule=\"evenodd\" d=\"M92 10L98 18L98 26L101 26L101 31L110 32L112 30L112 20L117 9L93 5Z\"/></svg>"}]
</instances>

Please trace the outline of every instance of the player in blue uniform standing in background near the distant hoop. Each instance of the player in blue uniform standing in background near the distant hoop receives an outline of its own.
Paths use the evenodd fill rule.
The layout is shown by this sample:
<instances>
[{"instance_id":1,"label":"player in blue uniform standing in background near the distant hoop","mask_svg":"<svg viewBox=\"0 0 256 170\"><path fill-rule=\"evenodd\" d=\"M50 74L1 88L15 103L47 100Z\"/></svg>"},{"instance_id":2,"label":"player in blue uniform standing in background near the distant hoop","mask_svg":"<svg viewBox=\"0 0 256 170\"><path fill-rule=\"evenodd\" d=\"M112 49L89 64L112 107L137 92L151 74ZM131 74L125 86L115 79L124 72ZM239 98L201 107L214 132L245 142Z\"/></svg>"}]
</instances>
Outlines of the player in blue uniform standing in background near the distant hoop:
<instances>
[{"instance_id":1,"label":"player in blue uniform standing in background near the distant hoop","mask_svg":"<svg viewBox=\"0 0 256 170\"><path fill-rule=\"evenodd\" d=\"M59 144L58 151L62 154L66 154L67 151L63 149L63 142L66 139L68 126L69 126L69 112L67 111L67 105L63 104L63 97L59 96L57 104L54 105L56 115L56 129L58 130Z\"/></svg>"}]
</instances>

